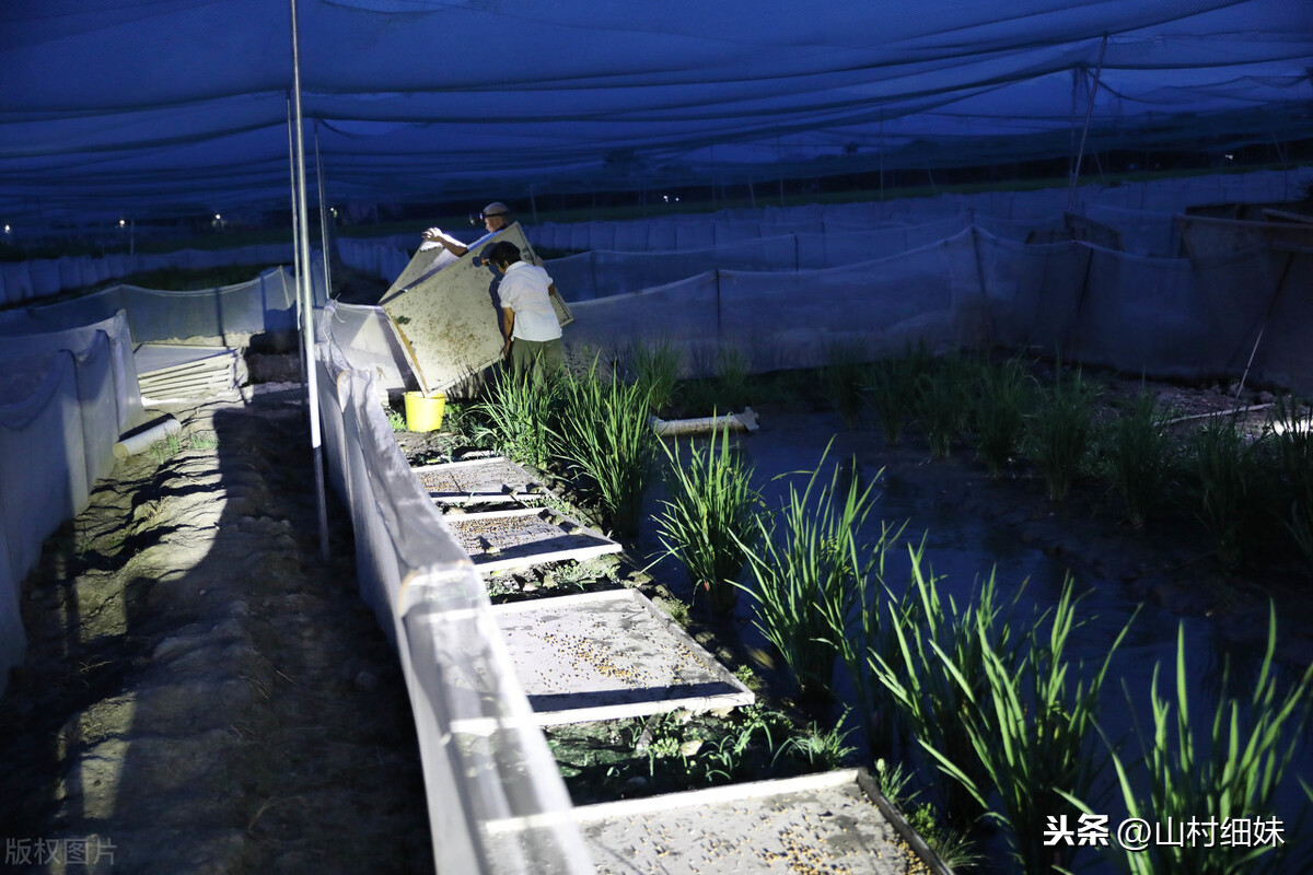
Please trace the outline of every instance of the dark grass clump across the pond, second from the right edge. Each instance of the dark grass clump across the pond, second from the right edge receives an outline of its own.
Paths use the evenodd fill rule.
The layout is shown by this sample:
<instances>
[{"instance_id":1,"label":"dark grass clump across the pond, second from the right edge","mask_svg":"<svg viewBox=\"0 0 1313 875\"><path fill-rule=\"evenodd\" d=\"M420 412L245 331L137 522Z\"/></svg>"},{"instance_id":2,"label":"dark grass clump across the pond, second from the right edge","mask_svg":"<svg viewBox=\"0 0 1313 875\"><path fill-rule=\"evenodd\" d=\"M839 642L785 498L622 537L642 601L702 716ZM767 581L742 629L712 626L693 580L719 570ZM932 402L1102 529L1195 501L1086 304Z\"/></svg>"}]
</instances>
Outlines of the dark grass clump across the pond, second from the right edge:
<instances>
[{"instance_id":1,"label":"dark grass clump across the pond, second from the right edge","mask_svg":"<svg viewBox=\"0 0 1313 875\"><path fill-rule=\"evenodd\" d=\"M1218 560L1237 564L1258 493L1254 445L1245 439L1234 417L1209 420L1191 436L1186 468L1196 492L1195 513L1213 535Z\"/></svg>"}]
</instances>

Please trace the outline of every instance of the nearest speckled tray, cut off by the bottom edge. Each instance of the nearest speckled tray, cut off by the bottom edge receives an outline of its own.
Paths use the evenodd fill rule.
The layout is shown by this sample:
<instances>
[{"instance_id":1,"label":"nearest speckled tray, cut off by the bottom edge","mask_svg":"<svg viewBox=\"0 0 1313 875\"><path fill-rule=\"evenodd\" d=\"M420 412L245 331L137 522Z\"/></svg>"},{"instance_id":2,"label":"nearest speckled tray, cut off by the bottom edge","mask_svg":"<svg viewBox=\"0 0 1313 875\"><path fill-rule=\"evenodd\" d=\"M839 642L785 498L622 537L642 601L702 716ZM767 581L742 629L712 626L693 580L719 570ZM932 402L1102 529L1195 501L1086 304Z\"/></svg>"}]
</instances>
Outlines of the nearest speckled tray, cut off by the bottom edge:
<instances>
[{"instance_id":1,"label":"nearest speckled tray, cut off by the bottom edge","mask_svg":"<svg viewBox=\"0 0 1313 875\"><path fill-rule=\"evenodd\" d=\"M595 871L949 870L860 769L575 808Z\"/></svg>"}]
</instances>

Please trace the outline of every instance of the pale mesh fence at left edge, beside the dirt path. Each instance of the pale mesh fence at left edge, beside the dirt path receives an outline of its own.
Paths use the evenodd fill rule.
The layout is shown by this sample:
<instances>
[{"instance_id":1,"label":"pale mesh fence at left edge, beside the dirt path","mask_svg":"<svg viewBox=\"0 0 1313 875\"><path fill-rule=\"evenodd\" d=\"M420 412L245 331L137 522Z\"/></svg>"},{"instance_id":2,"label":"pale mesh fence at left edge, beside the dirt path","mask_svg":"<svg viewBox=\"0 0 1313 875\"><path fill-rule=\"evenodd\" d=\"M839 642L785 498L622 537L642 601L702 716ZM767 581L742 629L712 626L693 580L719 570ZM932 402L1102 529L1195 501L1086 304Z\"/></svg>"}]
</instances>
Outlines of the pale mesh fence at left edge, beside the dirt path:
<instances>
[{"instance_id":1,"label":"pale mesh fence at left edge, beside the dirt path","mask_svg":"<svg viewBox=\"0 0 1313 875\"><path fill-rule=\"evenodd\" d=\"M3 332L0 332L3 333ZM22 661L22 579L143 420L127 317L0 336L0 694Z\"/></svg>"}]
</instances>

